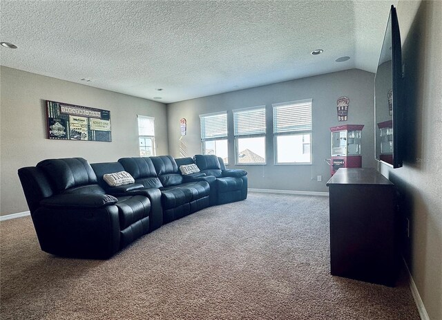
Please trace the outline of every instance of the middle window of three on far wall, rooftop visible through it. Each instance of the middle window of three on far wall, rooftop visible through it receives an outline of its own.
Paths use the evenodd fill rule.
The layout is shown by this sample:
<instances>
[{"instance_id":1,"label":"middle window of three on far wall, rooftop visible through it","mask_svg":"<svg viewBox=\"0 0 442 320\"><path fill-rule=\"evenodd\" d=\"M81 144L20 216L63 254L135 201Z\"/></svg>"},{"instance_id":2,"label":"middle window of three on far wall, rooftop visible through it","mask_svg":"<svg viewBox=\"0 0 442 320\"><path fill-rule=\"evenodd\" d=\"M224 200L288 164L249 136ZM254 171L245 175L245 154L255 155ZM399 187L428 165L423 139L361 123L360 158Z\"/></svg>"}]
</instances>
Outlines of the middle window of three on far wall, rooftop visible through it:
<instances>
[{"instance_id":1,"label":"middle window of three on far wall, rooftop visible through it","mask_svg":"<svg viewBox=\"0 0 442 320\"><path fill-rule=\"evenodd\" d=\"M265 106L233 110L237 164L265 164Z\"/></svg>"}]
</instances>

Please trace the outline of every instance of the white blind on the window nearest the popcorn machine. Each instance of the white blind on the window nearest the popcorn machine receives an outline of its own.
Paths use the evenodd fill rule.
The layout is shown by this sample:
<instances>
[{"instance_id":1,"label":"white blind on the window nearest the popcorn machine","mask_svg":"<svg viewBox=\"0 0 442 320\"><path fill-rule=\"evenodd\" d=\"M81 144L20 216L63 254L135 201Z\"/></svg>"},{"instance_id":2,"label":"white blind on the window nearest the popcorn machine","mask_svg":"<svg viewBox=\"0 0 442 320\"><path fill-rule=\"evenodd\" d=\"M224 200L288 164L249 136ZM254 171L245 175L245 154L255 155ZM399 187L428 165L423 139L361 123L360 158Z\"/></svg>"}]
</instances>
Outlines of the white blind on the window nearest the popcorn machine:
<instances>
[{"instance_id":1,"label":"white blind on the window nearest the popcorn machine","mask_svg":"<svg viewBox=\"0 0 442 320\"><path fill-rule=\"evenodd\" d=\"M311 131L311 99L272 106L273 133Z\"/></svg>"}]
</instances>

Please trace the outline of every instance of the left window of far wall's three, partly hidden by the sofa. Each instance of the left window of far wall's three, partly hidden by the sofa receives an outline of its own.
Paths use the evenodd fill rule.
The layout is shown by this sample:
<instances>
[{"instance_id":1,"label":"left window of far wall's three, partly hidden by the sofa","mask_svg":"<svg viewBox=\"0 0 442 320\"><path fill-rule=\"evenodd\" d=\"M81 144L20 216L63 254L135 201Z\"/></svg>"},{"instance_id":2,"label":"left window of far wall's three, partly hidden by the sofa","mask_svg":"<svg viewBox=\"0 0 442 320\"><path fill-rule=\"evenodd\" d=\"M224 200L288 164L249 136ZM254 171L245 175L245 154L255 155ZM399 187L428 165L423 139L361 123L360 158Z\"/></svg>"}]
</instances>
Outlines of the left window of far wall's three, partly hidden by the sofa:
<instances>
[{"instance_id":1,"label":"left window of far wall's three, partly hidden by the sofa","mask_svg":"<svg viewBox=\"0 0 442 320\"><path fill-rule=\"evenodd\" d=\"M214 154L229 163L227 111L200 115L202 154Z\"/></svg>"}]
</instances>

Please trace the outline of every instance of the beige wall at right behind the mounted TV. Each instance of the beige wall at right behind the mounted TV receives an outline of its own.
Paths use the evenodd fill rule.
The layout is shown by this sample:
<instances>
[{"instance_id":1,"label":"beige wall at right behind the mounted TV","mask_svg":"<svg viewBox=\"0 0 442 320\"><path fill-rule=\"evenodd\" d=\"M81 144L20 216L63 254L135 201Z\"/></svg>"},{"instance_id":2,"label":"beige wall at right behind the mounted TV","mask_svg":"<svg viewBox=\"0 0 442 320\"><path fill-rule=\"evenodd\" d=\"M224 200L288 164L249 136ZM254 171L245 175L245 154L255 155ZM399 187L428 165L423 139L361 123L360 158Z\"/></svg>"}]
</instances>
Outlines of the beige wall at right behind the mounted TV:
<instances>
[{"instance_id":1,"label":"beige wall at right behind the mounted TV","mask_svg":"<svg viewBox=\"0 0 442 320\"><path fill-rule=\"evenodd\" d=\"M442 1L399 1L405 63L405 159L380 171L410 219L405 259L432 320L442 319Z\"/></svg>"}]
</instances>

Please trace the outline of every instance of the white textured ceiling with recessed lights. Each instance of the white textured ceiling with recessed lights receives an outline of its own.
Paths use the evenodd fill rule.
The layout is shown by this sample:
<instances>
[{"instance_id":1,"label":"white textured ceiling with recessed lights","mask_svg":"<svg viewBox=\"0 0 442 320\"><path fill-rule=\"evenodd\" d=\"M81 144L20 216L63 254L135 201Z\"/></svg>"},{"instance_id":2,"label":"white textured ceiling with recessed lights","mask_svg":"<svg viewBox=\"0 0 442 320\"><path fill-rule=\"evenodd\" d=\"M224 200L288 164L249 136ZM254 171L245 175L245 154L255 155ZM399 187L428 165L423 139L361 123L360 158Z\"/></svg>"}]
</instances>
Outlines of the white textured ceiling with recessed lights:
<instances>
[{"instance_id":1,"label":"white textured ceiling with recessed lights","mask_svg":"<svg viewBox=\"0 0 442 320\"><path fill-rule=\"evenodd\" d=\"M177 102L349 68L374 72L391 4L2 0L0 41L18 48L1 47L0 63ZM310 55L317 48L324 53ZM342 56L351 59L335 62Z\"/></svg>"}]
</instances>

